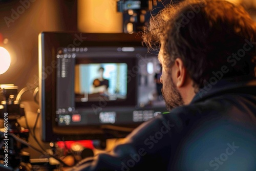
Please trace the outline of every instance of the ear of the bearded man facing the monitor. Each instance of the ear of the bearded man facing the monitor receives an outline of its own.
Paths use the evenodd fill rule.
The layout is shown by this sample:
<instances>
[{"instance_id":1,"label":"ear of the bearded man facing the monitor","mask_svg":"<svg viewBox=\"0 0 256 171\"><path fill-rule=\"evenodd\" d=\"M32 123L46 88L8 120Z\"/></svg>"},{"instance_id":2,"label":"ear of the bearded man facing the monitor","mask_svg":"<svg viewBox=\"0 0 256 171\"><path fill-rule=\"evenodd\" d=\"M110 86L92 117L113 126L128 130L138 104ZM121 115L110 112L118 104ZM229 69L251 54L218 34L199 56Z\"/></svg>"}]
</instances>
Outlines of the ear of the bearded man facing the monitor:
<instances>
[{"instance_id":1,"label":"ear of the bearded man facing the monitor","mask_svg":"<svg viewBox=\"0 0 256 171\"><path fill-rule=\"evenodd\" d=\"M175 67L174 76L176 77L176 86L177 88L181 88L184 86L186 81L186 76L187 76L187 70L181 58L175 59L174 67Z\"/></svg>"}]
</instances>

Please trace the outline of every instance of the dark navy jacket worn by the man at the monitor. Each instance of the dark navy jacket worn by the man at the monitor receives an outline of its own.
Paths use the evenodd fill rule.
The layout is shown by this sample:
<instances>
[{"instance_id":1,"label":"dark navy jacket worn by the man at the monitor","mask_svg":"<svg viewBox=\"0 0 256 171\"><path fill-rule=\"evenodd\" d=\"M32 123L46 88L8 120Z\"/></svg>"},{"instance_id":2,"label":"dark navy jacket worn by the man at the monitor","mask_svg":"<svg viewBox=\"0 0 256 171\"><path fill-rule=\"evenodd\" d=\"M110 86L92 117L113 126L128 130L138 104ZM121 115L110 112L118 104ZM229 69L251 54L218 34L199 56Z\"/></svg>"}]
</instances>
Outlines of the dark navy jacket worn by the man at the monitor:
<instances>
[{"instance_id":1,"label":"dark navy jacket worn by the man at the monitor","mask_svg":"<svg viewBox=\"0 0 256 171\"><path fill-rule=\"evenodd\" d=\"M72 170L256 170L256 85L219 81Z\"/></svg>"}]
</instances>

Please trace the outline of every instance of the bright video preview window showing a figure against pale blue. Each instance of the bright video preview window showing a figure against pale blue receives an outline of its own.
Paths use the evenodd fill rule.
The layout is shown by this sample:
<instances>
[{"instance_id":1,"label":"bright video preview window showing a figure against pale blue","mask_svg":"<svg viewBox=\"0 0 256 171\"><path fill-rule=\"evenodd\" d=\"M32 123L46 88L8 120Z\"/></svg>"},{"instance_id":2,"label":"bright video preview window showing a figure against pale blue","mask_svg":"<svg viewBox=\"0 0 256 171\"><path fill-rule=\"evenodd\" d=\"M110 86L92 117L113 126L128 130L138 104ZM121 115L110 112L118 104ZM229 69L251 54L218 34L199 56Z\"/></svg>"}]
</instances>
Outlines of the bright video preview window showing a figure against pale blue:
<instances>
[{"instance_id":1,"label":"bright video preview window showing a figure against pale blue","mask_svg":"<svg viewBox=\"0 0 256 171\"><path fill-rule=\"evenodd\" d=\"M80 63L75 65L75 79L75 102L127 98L126 63Z\"/></svg>"}]
</instances>

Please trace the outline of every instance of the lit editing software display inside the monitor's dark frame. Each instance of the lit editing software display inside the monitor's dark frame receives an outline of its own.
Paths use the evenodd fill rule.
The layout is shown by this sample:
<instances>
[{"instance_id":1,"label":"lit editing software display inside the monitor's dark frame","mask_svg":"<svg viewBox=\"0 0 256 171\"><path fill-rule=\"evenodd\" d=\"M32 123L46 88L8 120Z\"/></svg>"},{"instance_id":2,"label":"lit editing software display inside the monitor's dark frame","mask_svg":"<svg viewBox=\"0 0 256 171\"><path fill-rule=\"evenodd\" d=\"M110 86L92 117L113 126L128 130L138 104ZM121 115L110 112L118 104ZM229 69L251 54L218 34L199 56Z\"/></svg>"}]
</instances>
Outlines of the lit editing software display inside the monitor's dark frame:
<instances>
[{"instance_id":1,"label":"lit editing software display inside the monitor's dark frame","mask_svg":"<svg viewBox=\"0 0 256 171\"><path fill-rule=\"evenodd\" d=\"M130 124L164 110L159 61L144 47L64 47L56 61L58 126Z\"/></svg>"}]
</instances>

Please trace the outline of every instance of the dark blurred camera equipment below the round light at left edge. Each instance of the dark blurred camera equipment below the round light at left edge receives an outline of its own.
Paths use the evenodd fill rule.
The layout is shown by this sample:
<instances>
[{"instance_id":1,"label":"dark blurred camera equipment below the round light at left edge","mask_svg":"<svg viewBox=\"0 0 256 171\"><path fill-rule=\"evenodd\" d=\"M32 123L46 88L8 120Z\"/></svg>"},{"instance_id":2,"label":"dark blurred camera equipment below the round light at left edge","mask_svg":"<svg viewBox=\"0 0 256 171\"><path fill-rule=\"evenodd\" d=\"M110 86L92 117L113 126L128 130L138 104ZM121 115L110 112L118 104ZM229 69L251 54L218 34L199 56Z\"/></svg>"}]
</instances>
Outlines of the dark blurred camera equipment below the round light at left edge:
<instances>
[{"instance_id":1,"label":"dark blurred camera equipment below the round light at left edge","mask_svg":"<svg viewBox=\"0 0 256 171\"><path fill-rule=\"evenodd\" d=\"M25 116L24 106L19 104L19 101L14 100L17 90L18 87L14 84L0 85L0 93L4 98L0 105L0 118L4 119L4 128L0 130L2 160L0 168L5 170L31 170L29 154L22 151L26 146L10 135L10 133L14 134L26 141L29 136L29 130L24 129L17 122L18 118Z\"/></svg>"}]
</instances>

